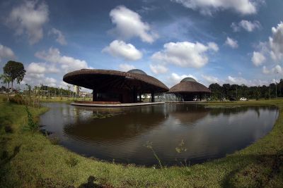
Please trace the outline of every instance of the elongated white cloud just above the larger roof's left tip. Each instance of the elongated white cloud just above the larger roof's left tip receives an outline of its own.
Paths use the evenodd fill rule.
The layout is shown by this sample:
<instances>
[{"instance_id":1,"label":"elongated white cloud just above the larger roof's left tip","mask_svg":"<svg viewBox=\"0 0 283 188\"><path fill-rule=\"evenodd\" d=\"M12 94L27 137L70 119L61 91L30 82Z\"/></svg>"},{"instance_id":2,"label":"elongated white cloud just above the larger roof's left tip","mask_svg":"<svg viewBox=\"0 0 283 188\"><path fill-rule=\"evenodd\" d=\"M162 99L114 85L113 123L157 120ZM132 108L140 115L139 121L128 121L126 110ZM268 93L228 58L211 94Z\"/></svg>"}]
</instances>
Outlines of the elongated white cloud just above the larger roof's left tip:
<instances>
[{"instance_id":1,"label":"elongated white cloud just above the larger roof's left tip","mask_svg":"<svg viewBox=\"0 0 283 188\"><path fill-rule=\"evenodd\" d=\"M59 63L65 73L88 68L86 61L70 56L62 56L59 49L50 48L48 51L39 51L35 53L35 56L50 63Z\"/></svg>"}]
</instances>

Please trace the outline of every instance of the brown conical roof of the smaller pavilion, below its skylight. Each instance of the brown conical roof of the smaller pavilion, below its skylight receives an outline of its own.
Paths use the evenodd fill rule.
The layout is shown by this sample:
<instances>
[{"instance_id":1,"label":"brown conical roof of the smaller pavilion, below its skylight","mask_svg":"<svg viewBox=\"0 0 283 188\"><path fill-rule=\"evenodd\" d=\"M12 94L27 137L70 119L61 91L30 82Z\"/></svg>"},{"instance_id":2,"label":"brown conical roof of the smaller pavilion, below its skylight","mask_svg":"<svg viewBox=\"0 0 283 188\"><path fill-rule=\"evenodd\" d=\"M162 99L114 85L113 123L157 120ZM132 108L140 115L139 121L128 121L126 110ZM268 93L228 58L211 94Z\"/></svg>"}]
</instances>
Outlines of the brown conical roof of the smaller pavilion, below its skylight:
<instances>
[{"instance_id":1,"label":"brown conical roof of the smaller pavilion, below its skylight","mask_svg":"<svg viewBox=\"0 0 283 188\"><path fill-rule=\"evenodd\" d=\"M210 89L205 87L203 84L198 82L180 82L175 84L171 89L169 89L170 93L211 93Z\"/></svg>"}]
</instances>

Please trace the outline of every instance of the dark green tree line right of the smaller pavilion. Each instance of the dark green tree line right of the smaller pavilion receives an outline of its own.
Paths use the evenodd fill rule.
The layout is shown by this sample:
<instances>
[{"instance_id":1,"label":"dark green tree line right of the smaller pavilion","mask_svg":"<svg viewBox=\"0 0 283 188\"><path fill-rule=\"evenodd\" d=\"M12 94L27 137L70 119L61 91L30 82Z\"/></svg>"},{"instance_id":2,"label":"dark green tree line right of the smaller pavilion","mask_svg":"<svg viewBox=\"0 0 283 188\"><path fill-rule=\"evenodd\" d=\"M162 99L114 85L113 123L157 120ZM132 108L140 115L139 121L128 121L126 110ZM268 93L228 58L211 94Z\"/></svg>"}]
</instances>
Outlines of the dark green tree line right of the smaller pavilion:
<instances>
[{"instance_id":1,"label":"dark green tree line right of the smaller pavilion","mask_svg":"<svg viewBox=\"0 0 283 188\"><path fill-rule=\"evenodd\" d=\"M270 99L283 97L283 79L277 83L269 84L268 86L252 86L248 87L245 84L223 84L222 86L215 83L210 84L209 89L212 91L210 98L212 100L238 100L241 97L247 99Z\"/></svg>"}]
</instances>

